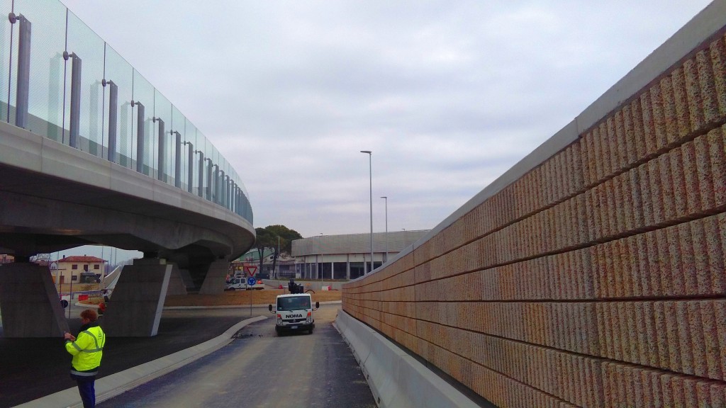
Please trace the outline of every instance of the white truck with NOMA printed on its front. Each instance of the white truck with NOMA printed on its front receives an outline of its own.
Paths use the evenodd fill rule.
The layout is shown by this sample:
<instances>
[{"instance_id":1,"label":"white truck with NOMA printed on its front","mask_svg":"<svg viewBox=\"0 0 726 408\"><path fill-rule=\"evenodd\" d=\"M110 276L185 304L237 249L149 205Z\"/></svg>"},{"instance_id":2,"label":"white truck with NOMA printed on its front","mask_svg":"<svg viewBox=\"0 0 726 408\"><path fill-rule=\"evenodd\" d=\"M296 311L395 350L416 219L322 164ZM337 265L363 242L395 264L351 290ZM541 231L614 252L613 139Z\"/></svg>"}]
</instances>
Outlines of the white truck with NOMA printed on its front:
<instances>
[{"instance_id":1,"label":"white truck with NOMA printed on its front","mask_svg":"<svg viewBox=\"0 0 726 408\"><path fill-rule=\"evenodd\" d=\"M270 313L277 315L274 325L277 335L297 330L307 330L309 334L313 334L315 328L313 311L319 307L320 302L315 302L315 307L312 307L312 298L309 293L277 295L277 307L273 309L272 305L267 306Z\"/></svg>"}]
</instances>

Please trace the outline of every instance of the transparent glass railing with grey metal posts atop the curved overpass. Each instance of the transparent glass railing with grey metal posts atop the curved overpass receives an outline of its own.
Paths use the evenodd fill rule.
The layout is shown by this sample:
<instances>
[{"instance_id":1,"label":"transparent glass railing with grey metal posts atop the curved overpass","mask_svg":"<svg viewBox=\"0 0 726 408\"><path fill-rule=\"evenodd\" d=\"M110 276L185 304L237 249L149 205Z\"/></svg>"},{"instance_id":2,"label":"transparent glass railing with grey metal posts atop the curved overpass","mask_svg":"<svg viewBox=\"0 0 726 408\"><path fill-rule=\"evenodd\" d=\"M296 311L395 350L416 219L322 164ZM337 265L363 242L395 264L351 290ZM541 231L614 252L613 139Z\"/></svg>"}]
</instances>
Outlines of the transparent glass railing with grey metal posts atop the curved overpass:
<instances>
[{"instance_id":1,"label":"transparent glass railing with grey metal posts atop the curved overpass","mask_svg":"<svg viewBox=\"0 0 726 408\"><path fill-rule=\"evenodd\" d=\"M0 0L0 121L105 158L253 221L199 129L57 0Z\"/></svg>"}]
</instances>

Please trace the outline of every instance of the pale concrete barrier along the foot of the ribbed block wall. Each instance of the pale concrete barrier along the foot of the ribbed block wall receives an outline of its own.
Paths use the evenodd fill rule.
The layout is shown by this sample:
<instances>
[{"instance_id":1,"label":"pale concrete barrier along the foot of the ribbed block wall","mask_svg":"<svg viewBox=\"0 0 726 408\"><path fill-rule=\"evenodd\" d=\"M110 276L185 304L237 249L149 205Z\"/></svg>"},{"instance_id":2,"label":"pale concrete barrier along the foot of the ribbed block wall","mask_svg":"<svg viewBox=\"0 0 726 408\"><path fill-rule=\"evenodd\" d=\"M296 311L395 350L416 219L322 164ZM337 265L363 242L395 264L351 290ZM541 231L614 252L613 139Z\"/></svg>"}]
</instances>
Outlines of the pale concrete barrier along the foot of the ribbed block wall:
<instances>
[{"instance_id":1,"label":"pale concrete barrier along the foot of the ribbed block wall","mask_svg":"<svg viewBox=\"0 0 726 408\"><path fill-rule=\"evenodd\" d=\"M479 407L406 351L345 311L338 311L335 327L351 347L379 407Z\"/></svg>"}]
</instances>

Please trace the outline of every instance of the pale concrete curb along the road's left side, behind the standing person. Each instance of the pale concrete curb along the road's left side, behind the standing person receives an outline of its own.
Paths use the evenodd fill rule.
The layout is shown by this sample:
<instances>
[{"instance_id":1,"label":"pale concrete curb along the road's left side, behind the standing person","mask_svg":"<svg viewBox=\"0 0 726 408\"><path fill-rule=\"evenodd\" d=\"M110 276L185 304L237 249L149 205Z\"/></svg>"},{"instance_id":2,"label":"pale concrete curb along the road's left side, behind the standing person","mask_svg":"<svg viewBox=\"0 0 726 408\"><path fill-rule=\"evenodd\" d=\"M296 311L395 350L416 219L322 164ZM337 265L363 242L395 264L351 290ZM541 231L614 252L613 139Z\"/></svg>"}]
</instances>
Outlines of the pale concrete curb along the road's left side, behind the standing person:
<instances>
[{"instance_id":1,"label":"pale concrete curb along the road's left side, behind the standing person","mask_svg":"<svg viewBox=\"0 0 726 408\"><path fill-rule=\"evenodd\" d=\"M248 306L249 307L249 306ZM205 341L204 343L197 344L185 348L184 350L177 351L176 353L163 356L160 359L155 359L150 362L140 364L136 367L131 367L128 370L116 372L112 375L99 378L96 380L96 402L102 402L107 399L111 399L114 396L118 396L121 393L129 391L131 388L135 388L139 385L147 383L150 380L158 378L162 375L172 372L184 367L185 365L195 362L197 359L211 354L213 351L219 350L224 346L227 346L232 341L232 335L254 322L267 319L265 316L253 317L251 319L242 320L242 322L229 327L227 331ZM68 388L57 393L44 396L33 401L28 401L25 404L17 405L15 408L81 408L83 403L81 402L81 396L78 395L78 388Z\"/></svg>"}]
</instances>

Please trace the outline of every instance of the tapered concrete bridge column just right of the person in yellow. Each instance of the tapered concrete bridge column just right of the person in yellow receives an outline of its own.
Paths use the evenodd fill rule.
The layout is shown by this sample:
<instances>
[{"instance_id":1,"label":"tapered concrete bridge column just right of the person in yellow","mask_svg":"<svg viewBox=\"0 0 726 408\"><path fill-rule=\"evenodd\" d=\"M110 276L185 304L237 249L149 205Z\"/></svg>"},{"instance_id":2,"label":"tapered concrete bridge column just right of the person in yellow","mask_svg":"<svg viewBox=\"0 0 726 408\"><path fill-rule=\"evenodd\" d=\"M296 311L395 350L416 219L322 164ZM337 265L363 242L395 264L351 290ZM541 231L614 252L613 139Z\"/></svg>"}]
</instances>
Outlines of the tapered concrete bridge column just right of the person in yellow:
<instances>
[{"instance_id":1,"label":"tapered concrete bridge column just right of the person in yellow","mask_svg":"<svg viewBox=\"0 0 726 408\"><path fill-rule=\"evenodd\" d=\"M152 337L159 330L172 264L158 258L134 259L123 267L102 318L110 337Z\"/></svg>"}]
</instances>

